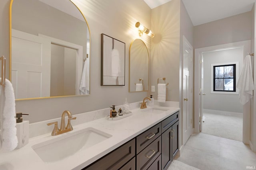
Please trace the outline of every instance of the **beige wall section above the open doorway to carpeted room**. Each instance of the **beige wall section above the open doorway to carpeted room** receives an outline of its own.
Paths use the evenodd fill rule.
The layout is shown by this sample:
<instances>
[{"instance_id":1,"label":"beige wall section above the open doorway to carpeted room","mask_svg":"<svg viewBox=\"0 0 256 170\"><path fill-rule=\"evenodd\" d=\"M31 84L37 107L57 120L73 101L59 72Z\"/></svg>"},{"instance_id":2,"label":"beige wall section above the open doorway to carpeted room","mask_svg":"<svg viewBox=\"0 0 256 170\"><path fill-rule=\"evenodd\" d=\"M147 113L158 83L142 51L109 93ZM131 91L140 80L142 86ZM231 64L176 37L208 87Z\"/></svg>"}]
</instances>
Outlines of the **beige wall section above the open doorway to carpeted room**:
<instances>
[{"instance_id":1,"label":"beige wall section above the open doorway to carpeted room","mask_svg":"<svg viewBox=\"0 0 256 170\"><path fill-rule=\"evenodd\" d=\"M194 27L194 49L251 39L251 12Z\"/></svg>"}]
</instances>

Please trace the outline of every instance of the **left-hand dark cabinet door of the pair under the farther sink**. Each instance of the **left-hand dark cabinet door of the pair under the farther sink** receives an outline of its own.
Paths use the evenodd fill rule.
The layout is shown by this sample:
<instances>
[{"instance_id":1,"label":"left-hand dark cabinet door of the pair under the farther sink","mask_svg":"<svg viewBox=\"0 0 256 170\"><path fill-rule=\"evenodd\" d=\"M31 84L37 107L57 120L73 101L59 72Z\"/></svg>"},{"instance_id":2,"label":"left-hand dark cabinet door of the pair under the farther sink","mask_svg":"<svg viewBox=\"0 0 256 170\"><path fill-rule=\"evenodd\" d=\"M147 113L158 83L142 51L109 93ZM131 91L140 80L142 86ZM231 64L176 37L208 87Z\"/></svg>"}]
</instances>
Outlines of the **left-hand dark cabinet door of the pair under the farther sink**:
<instances>
[{"instance_id":1,"label":"left-hand dark cabinet door of the pair under the farther sink","mask_svg":"<svg viewBox=\"0 0 256 170\"><path fill-rule=\"evenodd\" d=\"M167 170L172 162L172 127L162 133L162 170Z\"/></svg>"}]
</instances>

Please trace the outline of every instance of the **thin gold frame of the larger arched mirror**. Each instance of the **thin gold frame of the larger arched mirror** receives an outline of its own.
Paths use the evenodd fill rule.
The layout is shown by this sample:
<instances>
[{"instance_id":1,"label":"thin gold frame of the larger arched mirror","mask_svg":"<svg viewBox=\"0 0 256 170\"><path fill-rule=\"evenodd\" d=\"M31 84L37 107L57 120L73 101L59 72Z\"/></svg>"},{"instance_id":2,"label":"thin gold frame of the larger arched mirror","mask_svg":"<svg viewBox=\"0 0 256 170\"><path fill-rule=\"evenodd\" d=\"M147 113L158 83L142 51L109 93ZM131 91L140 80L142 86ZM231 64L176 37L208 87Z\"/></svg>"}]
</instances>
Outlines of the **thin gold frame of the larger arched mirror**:
<instances>
[{"instance_id":1,"label":"thin gold frame of the larger arched mirror","mask_svg":"<svg viewBox=\"0 0 256 170\"><path fill-rule=\"evenodd\" d=\"M13 4L14 0L10 1L10 8L9 8L9 26L10 26L10 64L9 64L9 80L12 80L12 4ZM69 0L72 4L74 4L74 2L72 2L72 0ZM91 33L90 33L90 27L88 25L88 22L84 16L84 14L82 13L82 11L80 10L80 8L78 8L78 6L76 6L76 4L74 4L74 6L79 10L79 12L82 14L84 20L86 21L86 25L88 27L88 32L89 32L89 41L90 41L90 47L89 47L89 56L91 57ZM91 69L91 60L90 60L90 68ZM34 99L44 99L44 98L61 98L61 97L72 97L72 96L89 96L91 93L91 83L90 83L90 79L91 79L91 75L90 75L90 71L89 71L89 94L86 95L70 95L70 96L49 96L49 97L38 97L38 98L22 98L22 99L15 99L16 101L18 100L34 100Z\"/></svg>"}]
</instances>

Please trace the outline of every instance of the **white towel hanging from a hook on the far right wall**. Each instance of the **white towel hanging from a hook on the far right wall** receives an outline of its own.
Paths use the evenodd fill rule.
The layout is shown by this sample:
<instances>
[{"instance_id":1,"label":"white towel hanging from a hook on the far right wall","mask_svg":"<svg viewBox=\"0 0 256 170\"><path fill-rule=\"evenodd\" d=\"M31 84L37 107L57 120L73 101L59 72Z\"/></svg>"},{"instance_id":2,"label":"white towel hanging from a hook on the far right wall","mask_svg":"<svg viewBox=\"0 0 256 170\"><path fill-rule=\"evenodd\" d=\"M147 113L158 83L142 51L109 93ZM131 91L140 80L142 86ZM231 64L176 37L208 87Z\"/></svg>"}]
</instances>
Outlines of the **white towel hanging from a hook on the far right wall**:
<instances>
[{"instance_id":1,"label":"white towel hanging from a hook on the far right wall","mask_svg":"<svg viewBox=\"0 0 256 170\"><path fill-rule=\"evenodd\" d=\"M241 104L246 104L253 96L253 77L252 77L252 62L251 56L247 55L244 58L244 66L236 87L239 91L239 99Z\"/></svg>"}]
</instances>

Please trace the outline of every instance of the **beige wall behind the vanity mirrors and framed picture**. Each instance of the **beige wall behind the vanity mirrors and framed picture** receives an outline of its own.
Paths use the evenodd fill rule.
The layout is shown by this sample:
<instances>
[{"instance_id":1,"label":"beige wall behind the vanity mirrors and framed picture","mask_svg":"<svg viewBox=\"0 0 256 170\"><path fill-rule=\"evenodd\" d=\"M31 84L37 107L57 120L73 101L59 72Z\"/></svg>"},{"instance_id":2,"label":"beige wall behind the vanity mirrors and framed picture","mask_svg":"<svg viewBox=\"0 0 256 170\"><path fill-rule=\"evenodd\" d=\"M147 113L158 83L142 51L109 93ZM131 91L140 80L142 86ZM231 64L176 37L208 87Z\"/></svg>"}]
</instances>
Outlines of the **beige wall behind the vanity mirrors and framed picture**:
<instances>
[{"instance_id":1,"label":"beige wall behind the vanity mirrors and framed picture","mask_svg":"<svg viewBox=\"0 0 256 170\"><path fill-rule=\"evenodd\" d=\"M129 45L139 38L135 23L140 21L146 27L151 25L151 9L143 0L73 0L82 10L91 32L90 54L90 96L63 97L37 100L16 101L16 112L29 113L24 120L30 123L60 117L66 109L73 114L83 113L109 107L112 104L122 105L127 97L128 102L138 102L147 96L147 92L128 92ZM9 5L10 0L0 1L0 54L7 58L9 64ZM126 43L125 86L100 86L100 34L105 33ZM150 51L151 38L140 37ZM7 75L9 68L7 67Z\"/></svg>"}]
</instances>

